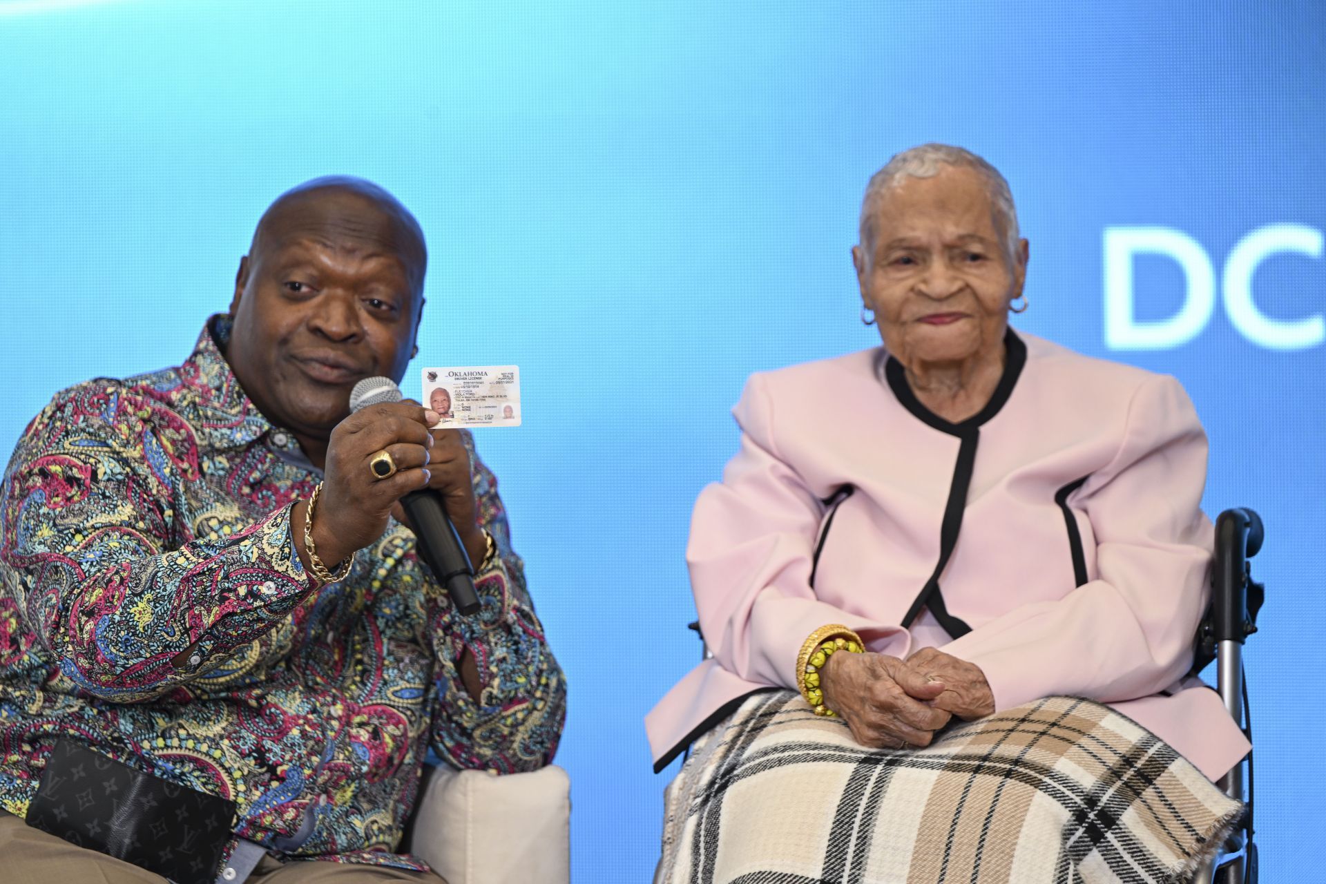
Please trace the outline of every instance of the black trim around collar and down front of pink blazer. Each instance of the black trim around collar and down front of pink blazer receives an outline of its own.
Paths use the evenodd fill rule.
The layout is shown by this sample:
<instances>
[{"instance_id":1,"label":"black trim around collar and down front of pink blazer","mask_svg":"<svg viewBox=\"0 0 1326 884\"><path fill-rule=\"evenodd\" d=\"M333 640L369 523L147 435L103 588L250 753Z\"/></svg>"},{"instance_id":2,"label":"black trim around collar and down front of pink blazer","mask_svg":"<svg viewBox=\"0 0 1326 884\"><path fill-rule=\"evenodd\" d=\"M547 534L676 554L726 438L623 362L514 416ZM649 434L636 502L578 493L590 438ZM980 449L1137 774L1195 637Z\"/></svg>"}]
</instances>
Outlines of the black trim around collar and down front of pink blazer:
<instances>
[{"instance_id":1,"label":"black trim around collar and down front of pink blazer","mask_svg":"<svg viewBox=\"0 0 1326 884\"><path fill-rule=\"evenodd\" d=\"M963 516L967 512L967 490L972 484L972 473L976 468L976 448L981 437L980 427L997 415L1005 403L1008 403L1025 364L1026 345L1009 329L1004 335L1004 374L994 387L994 395L991 396L991 400L977 414L955 424L951 420L940 417L920 403L916 394L912 392L911 384L907 383L907 371L900 362L892 357L884 360L884 379L903 408L928 427L949 436L957 436L961 440L961 445L957 449L957 463L953 465L953 481L948 486L948 502L944 505L944 518L939 527L939 561L935 563L935 570L930 575L930 579L926 580L926 586L922 587L911 607L907 608L907 615L902 623L904 630L911 628L912 622L920 615L922 608L928 607L930 612L935 615L935 619L944 627L944 631L949 636L956 639L972 631L972 627L965 622L948 612L948 607L944 604L944 594L939 587L939 578L944 573L949 557L953 554L953 547L957 546L957 534L963 527Z\"/></svg>"}]
</instances>

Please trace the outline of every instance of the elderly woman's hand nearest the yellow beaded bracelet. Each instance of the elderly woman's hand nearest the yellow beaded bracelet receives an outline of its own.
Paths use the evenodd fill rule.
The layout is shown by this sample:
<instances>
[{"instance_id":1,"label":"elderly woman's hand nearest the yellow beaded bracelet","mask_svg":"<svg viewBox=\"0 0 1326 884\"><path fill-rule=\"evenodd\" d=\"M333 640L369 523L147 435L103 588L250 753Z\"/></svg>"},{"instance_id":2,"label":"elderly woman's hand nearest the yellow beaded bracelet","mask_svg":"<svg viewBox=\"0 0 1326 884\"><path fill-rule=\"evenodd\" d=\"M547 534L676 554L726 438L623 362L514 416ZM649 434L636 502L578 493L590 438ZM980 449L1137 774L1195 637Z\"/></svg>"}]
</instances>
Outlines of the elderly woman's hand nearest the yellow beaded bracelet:
<instances>
[{"instance_id":1,"label":"elderly woman's hand nearest the yellow beaded bracelet","mask_svg":"<svg viewBox=\"0 0 1326 884\"><path fill-rule=\"evenodd\" d=\"M825 705L847 722L857 742L875 749L928 746L949 713L926 701L945 687L883 653L839 651L819 669Z\"/></svg>"}]
</instances>

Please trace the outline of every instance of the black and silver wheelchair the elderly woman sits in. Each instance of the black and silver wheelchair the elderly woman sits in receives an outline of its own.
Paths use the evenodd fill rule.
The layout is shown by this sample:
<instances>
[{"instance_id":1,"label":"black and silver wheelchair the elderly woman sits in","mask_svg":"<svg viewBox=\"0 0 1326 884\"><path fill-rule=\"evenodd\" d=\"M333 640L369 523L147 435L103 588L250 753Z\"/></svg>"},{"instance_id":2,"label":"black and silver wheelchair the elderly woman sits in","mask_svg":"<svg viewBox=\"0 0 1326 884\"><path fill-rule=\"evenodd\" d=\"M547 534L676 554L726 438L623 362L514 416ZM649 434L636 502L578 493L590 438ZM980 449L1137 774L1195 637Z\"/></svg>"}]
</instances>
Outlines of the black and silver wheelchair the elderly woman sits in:
<instances>
[{"instance_id":1,"label":"black and silver wheelchair the elderly woman sits in","mask_svg":"<svg viewBox=\"0 0 1326 884\"><path fill-rule=\"evenodd\" d=\"M1216 551L1211 567L1211 604L1197 627L1192 675L1216 664L1216 691L1229 717L1252 742L1248 709L1248 679L1244 673L1242 645L1257 631L1257 611L1265 600L1265 587L1252 579L1248 562L1261 550L1265 530L1261 517L1248 508L1227 509L1216 520ZM704 640L699 622L688 627ZM704 648L704 657L713 656ZM1221 851L1192 876L1193 884L1257 884L1257 844L1253 840L1252 751L1221 777L1216 786L1245 803L1242 819L1235 826Z\"/></svg>"}]
</instances>

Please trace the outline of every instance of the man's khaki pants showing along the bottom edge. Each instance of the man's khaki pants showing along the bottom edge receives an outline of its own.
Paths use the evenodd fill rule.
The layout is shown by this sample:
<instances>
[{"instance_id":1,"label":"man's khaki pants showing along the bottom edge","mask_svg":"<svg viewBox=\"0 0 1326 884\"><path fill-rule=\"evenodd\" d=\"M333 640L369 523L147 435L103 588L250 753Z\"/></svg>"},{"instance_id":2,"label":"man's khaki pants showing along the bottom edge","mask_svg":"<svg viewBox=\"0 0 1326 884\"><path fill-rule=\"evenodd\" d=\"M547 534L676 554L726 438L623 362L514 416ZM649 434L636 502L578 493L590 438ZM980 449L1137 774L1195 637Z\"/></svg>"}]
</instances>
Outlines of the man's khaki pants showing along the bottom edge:
<instances>
[{"instance_id":1,"label":"man's khaki pants showing along the bottom edge","mask_svg":"<svg viewBox=\"0 0 1326 884\"><path fill-rule=\"evenodd\" d=\"M166 884L166 879L114 856L74 847L69 842L32 828L20 818L0 811L0 873L7 884ZM411 872L383 865L350 863L281 864L264 856L249 876L251 884L355 884L357 881L416 881L447 884L432 872Z\"/></svg>"}]
</instances>

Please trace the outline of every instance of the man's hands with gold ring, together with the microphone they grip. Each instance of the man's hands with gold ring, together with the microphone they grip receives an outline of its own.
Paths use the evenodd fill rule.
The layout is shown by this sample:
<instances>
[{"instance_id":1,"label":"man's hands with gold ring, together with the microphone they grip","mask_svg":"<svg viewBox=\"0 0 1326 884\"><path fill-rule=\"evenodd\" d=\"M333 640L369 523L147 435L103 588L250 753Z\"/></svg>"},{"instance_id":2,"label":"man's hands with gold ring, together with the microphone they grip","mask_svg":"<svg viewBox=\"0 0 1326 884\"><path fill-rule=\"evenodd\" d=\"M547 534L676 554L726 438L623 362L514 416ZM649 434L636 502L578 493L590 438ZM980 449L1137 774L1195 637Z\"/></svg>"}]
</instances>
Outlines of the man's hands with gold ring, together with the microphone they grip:
<instances>
[{"instance_id":1,"label":"man's hands with gold ring, together with the microphone they grip","mask_svg":"<svg viewBox=\"0 0 1326 884\"><path fill-rule=\"evenodd\" d=\"M332 566L373 543L395 514L460 612L477 611L471 558L483 558L487 538L460 433L430 432L426 410L402 402L390 378L355 384L350 410L328 444L312 529L318 558Z\"/></svg>"}]
</instances>

